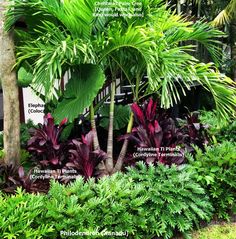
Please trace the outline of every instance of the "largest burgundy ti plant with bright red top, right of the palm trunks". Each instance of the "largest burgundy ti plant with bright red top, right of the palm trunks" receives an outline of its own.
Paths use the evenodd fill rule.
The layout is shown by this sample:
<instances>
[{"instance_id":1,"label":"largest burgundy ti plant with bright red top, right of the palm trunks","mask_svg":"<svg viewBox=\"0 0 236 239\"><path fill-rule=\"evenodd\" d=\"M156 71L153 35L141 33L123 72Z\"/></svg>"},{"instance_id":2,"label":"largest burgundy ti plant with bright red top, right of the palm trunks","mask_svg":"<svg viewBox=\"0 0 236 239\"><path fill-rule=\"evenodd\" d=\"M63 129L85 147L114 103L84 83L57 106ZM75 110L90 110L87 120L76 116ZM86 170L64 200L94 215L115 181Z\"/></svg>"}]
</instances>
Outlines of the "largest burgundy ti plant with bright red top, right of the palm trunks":
<instances>
[{"instance_id":1,"label":"largest burgundy ti plant with bright red top, right of the palm trunks","mask_svg":"<svg viewBox=\"0 0 236 239\"><path fill-rule=\"evenodd\" d=\"M175 122L163 110L157 114L157 102L150 98L142 106L133 103L131 109L137 126L121 139L134 142L137 159L143 158L146 163L183 163L184 150L179 146Z\"/></svg>"}]
</instances>

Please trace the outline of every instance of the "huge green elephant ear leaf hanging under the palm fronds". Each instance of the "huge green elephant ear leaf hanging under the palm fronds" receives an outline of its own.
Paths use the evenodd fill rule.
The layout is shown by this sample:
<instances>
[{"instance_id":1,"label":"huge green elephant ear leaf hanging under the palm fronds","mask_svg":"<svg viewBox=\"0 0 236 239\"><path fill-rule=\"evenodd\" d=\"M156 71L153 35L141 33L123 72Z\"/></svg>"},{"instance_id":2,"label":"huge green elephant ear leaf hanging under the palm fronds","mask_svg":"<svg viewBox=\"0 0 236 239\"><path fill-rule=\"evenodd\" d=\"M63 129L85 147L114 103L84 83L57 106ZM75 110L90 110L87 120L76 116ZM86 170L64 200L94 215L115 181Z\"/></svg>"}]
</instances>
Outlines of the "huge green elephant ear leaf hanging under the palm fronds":
<instances>
[{"instance_id":1,"label":"huge green elephant ear leaf hanging under the palm fronds","mask_svg":"<svg viewBox=\"0 0 236 239\"><path fill-rule=\"evenodd\" d=\"M105 82L105 75L97 65L83 64L71 72L64 97L54 111L60 122L65 117L72 122L89 107Z\"/></svg>"}]
</instances>

